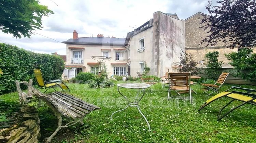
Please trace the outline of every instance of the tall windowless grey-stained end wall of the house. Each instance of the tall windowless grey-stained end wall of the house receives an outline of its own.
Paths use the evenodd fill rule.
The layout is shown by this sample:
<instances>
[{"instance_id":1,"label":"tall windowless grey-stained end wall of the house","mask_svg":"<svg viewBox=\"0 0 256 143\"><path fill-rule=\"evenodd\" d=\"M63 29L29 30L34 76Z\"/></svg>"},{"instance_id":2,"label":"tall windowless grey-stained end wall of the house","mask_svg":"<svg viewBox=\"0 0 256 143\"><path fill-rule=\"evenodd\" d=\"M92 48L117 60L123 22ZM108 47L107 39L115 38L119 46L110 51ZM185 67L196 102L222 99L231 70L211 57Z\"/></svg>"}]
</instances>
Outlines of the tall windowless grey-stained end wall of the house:
<instances>
[{"instance_id":1,"label":"tall windowless grey-stained end wall of the house","mask_svg":"<svg viewBox=\"0 0 256 143\"><path fill-rule=\"evenodd\" d=\"M172 71L172 66L179 62L181 50L185 50L184 20L156 12L154 17L154 58L157 64L157 76Z\"/></svg>"}]
</instances>

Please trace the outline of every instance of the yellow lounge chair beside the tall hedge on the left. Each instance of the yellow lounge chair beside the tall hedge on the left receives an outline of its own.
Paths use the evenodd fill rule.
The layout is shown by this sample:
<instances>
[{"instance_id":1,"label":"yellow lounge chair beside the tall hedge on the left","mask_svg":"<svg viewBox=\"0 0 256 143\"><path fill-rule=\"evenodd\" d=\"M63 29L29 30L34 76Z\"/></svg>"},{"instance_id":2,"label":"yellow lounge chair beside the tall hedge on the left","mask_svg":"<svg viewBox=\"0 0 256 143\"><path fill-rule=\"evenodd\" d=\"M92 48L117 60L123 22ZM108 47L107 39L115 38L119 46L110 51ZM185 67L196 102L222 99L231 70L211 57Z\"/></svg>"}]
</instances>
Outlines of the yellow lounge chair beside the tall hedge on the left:
<instances>
[{"instance_id":1,"label":"yellow lounge chair beside the tall hedge on the left","mask_svg":"<svg viewBox=\"0 0 256 143\"><path fill-rule=\"evenodd\" d=\"M61 80L44 81L41 69L34 69L34 73L35 73L35 79L37 79L39 90L40 89L46 89L46 88L48 88L47 90L49 90L49 89L53 88L56 91L54 86L59 86L62 89L62 91L64 91L63 89L70 91L68 86L65 83L63 83Z\"/></svg>"}]
</instances>

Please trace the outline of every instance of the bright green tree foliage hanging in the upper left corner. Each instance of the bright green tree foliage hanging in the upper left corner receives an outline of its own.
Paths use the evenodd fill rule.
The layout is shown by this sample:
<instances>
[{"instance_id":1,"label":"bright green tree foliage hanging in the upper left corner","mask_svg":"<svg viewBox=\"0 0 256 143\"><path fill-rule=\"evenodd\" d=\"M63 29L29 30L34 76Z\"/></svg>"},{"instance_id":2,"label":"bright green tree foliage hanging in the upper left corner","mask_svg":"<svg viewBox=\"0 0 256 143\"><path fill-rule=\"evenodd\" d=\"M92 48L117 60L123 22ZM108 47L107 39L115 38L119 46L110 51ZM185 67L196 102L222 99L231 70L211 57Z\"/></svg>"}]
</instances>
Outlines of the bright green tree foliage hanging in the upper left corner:
<instances>
[{"instance_id":1,"label":"bright green tree foliage hanging in the upper left corner","mask_svg":"<svg viewBox=\"0 0 256 143\"><path fill-rule=\"evenodd\" d=\"M38 0L0 0L0 30L16 38L29 37L42 28L42 17L54 14Z\"/></svg>"}]
</instances>

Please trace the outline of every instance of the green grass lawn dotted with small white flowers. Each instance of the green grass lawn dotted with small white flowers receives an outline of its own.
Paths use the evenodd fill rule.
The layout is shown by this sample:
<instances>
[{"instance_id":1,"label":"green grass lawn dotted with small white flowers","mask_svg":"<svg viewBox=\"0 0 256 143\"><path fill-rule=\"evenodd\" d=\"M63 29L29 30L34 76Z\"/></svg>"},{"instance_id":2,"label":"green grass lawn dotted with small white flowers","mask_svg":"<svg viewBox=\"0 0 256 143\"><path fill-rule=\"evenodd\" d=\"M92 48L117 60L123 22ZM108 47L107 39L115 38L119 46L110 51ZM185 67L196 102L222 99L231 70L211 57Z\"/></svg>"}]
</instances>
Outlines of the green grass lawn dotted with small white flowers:
<instances>
[{"instance_id":1,"label":"green grass lawn dotted with small white flowers","mask_svg":"<svg viewBox=\"0 0 256 143\"><path fill-rule=\"evenodd\" d=\"M152 132L147 131L144 118L134 107L114 114L113 120L110 120L112 112L126 107L126 100L117 92L116 85L103 89L88 89L87 84L67 85L71 89L69 94L95 104L101 109L88 114L83 126L71 127L70 129L74 131L72 139L66 134L61 137L62 142L252 142L256 140L255 106L249 104L242 106L221 121L217 121L219 109L230 99L216 100L198 112L197 109L212 97L201 94L204 89L199 84L192 85L193 90L197 92L192 94L192 105L186 100L167 101L167 89L161 88L160 83L152 85L154 92L147 91L139 104L142 113L150 123ZM231 86L256 89L256 86L251 85L224 84L220 91ZM52 91L49 90L49 92ZM122 88L121 92L130 100L134 100L136 90ZM17 102L18 95L17 92L9 93L0 96L0 99ZM234 102L223 112L238 104L238 101ZM43 119L42 122L57 123L56 118L50 115L49 111L48 108L39 110L41 117L48 119ZM45 123L41 126L41 130L45 128L53 127L51 123ZM48 132L51 133L50 130ZM63 130L66 131L66 129ZM61 133L57 134L56 138L58 136L61 136ZM53 140L56 141L56 138Z\"/></svg>"}]
</instances>

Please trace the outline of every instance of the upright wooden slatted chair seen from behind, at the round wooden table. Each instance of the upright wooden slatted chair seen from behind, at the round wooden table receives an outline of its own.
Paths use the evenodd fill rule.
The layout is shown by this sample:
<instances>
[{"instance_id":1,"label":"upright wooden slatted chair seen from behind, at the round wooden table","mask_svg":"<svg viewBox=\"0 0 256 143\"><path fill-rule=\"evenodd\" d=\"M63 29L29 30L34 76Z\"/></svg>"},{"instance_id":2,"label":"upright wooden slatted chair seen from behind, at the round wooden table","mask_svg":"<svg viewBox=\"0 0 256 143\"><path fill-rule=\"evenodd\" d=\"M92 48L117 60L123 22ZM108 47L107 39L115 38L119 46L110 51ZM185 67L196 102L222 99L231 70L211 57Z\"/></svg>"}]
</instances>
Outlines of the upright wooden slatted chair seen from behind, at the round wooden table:
<instances>
[{"instance_id":1,"label":"upright wooden slatted chair seen from behind, at the round wooden table","mask_svg":"<svg viewBox=\"0 0 256 143\"><path fill-rule=\"evenodd\" d=\"M190 88L190 79L191 79L190 73L174 73L174 72L168 72L168 81L169 81L169 90L168 90L168 97L167 101L169 101L169 98L173 99L182 99L182 100L190 100L190 104L192 104L192 96L191 96L191 88ZM170 91L174 90L179 96L171 96ZM181 96L179 91L189 92L189 97Z\"/></svg>"}]
</instances>

